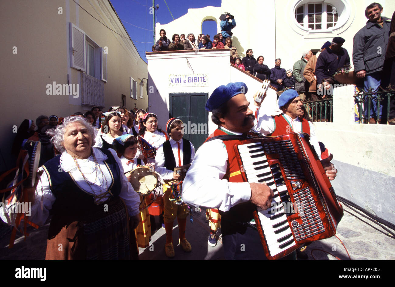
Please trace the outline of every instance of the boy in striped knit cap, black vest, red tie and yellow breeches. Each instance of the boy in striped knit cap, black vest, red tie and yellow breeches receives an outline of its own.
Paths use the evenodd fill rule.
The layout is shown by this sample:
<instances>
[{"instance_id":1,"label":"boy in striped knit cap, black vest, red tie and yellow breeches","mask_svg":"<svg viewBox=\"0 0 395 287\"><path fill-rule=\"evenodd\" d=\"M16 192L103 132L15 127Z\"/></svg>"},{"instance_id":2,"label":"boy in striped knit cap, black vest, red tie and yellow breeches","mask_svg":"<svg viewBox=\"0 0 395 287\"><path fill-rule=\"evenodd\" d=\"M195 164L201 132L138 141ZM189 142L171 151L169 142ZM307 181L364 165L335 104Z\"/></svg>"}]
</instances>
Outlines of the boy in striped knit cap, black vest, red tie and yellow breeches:
<instances>
[{"instance_id":1,"label":"boy in striped knit cap, black vest, red tie and yellow breeches","mask_svg":"<svg viewBox=\"0 0 395 287\"><path fill-rule=\"evenodd\" d=\"M181 175L176 173L175 167L190 164L195 157L195 148L191 142L182 138L182 121L175 117L169 119L166 131L171 136L170 140L161 145L155 157L155 169L165 181L182 181ZM185 203L177 205L169 199L171 188L164 184L164 222L166 228L166 256L174 257L173 247L173 221L177 217L179 228L179 242L185 252L192 250L191 245L185 238L186 216L188 207Z\"/></svg>"}]
</instances>

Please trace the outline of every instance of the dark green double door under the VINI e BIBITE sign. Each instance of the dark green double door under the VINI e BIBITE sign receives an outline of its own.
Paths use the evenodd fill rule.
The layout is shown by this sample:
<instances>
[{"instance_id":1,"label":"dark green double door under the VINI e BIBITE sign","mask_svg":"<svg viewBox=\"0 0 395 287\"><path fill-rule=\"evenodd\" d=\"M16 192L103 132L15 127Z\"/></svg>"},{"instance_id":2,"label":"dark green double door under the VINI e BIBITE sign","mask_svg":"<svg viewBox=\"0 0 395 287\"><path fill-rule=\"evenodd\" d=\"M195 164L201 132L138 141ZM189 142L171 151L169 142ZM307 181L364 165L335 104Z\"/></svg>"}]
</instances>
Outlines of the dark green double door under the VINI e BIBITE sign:
<instances>
[{"instance_id":1,"label":"dark green double door under the VINI e BIBITE sign","mask_svg":"<svg viewBox=\"0 0 395 287\"><path fill-rule=\"evenodd\" d=\"M205 110L208 93L170 93L169 118L177 117L185 124L184 138L197 150L208 136L209 113Z\"/></svg>"}]
</instances>

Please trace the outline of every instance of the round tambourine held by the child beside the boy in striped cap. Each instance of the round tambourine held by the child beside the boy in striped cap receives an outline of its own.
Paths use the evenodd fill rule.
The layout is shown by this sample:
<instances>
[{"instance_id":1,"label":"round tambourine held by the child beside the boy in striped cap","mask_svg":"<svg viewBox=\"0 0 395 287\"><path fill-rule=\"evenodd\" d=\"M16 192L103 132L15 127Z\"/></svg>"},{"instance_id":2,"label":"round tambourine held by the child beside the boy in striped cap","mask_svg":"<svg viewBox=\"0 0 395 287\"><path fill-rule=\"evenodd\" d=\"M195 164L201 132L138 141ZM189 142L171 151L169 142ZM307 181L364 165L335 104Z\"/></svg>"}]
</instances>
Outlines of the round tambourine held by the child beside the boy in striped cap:
<instances>
[{"instance_id":1,"label":"round tambourine held by the child beside the boy in striped cap","mask_svg":"<svg viewBox=\"0 0 395 287\"><path fill-rule=\"evenodd\" d=\"M158 175L147 166L139 166L130 171L135 192L144 195L152 192L158 186Z\"/></svg>"}]
</instances>

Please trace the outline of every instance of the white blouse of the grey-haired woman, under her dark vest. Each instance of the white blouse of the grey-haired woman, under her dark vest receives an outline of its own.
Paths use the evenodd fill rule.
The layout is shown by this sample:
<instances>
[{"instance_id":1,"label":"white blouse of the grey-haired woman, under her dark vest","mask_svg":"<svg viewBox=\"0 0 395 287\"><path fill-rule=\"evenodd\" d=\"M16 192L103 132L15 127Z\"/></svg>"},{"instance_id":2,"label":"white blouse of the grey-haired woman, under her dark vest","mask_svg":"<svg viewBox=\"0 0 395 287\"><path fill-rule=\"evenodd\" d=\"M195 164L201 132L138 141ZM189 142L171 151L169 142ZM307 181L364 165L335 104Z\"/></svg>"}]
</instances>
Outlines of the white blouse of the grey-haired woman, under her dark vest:
<instances>
[{"instance_id":1,"label":"white blouse of the grey-haired woman, under her dark vest","mask_svg":"<svg viewBox=\"0 0 395 287\"><path fill-rule=\"evenodd\" d=\"M118 158L117 154L113 149L108 149L111 151L112 155L117 162L119 169L120 169L120 181L121 181L121 192L119 197L122 198L128 208L128 212L130 216L134 216L139 213L139 204L140 198L137 192L134 191L132 185L124 176L124 171L122 167L122 163ZM111 186L111 174L107 169L107 166L104 163L104 160L107 159L107 156L102 153L99 149L93 148L94 155L98 164L103 171L103 177L101 175L100 170L98 171L98 176L96 177L96 172L94 171L95 164L92 155L87 159L77 159L77 162L81 168L81 171L84 173L85 177L87 178L89 183L93 183L93 185L88 185L81 172L77 169L73 158L67 153L64 152L60 156L60 168L62 172L70 172L72 177L75 179L75 182L86 192L100 196L107 192L108 188ZM43 170L42 167L38 169L38 171ZM103 180L104 179L104 180ZM91 189L92 188L92 189ZM41 197L43 199L43 207L41 208ZM110 198L109 194L106 194L103 198L99 200L99 202L103 202ZM55 202L56 198L54 194L51 192L49 187L49 181L47 174L43 172L40 177L40 182L36 188L36 200L32 205L32 215L29 217L29 220L38 224L43 225L49 216L49 211L52 208L53 203Z\"/></svg>"}]
</instances>

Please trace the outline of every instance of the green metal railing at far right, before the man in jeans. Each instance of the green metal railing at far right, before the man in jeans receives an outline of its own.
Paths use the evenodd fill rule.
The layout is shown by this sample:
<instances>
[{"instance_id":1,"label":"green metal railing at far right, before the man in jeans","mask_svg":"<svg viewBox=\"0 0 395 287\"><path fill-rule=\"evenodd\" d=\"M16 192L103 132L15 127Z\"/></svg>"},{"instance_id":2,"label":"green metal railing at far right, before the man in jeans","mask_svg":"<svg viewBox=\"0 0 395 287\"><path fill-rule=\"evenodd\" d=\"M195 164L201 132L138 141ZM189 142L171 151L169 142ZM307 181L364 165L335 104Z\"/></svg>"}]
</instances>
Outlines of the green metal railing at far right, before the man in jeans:
<instances>
[{"instance_id":1,"label":"green metal railing at far right, before the man in jeans","mask_svg":"<svg viewBox=\"0 0 395 287\"><path fill-rule=\"evenodd\" d=\"M395 94L395 89L387 88L383 89L381 86L376 89L376 91L373 91L372 88L370 88L368 91L364 91L361 89L359 92L355 92L354 94L354 100L355 103L357 104L357 109L359 113L359 120L357 121L358 123L368 123L369 119L371 117L370 112L368 112L369 116L365 118L365 110L370 111L373 105L373 102L376 103L377 107L377 113L376 117L374 118L376 122L379 121L380 113L380 103L382 103L383 106L383 111L382 113L386 116L384 117L385 122L388 123L389 121L389 110L390 110L390 101L391 97L394 97ZM386 104L386 105L385 105ZM386 110L384 110L384 108ZM383 120L383 117L382 117Z\"/></svg>"}]
</instances>

